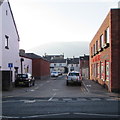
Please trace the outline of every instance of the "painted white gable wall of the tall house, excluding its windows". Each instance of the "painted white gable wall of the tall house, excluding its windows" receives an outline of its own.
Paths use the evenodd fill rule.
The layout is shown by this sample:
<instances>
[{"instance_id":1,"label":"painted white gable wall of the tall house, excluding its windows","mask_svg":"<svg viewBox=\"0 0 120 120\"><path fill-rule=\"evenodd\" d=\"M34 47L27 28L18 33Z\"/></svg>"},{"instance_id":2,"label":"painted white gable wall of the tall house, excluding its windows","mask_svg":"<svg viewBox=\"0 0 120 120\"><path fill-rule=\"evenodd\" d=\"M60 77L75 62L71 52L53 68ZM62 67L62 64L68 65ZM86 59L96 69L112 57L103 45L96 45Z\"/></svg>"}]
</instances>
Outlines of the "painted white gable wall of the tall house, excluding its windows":
<instances>
[{"instance_id":1,"label":"painted white gable wall of the tall house, excluding its windows","mask_svg":"<svg viewBox=\"0 0 120 120\"><path fill-rule=\"evenodd\" d=\"M13 18L6 0L4 0L3 4L0 6L2 9L2 68L1 70L9 70L8 63L13 63L13 79L14 78L14 67L19 67L19 41L18 35L15 29L15 25L13 22ZM6 10L8 15L6 15ZM9 49L5 48L5 35L9 36L8 46ZM1 53L0 53L1 55Z\"/></svg>"}]
</instances>

